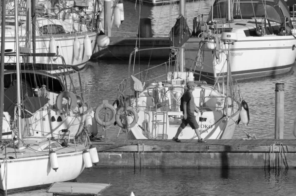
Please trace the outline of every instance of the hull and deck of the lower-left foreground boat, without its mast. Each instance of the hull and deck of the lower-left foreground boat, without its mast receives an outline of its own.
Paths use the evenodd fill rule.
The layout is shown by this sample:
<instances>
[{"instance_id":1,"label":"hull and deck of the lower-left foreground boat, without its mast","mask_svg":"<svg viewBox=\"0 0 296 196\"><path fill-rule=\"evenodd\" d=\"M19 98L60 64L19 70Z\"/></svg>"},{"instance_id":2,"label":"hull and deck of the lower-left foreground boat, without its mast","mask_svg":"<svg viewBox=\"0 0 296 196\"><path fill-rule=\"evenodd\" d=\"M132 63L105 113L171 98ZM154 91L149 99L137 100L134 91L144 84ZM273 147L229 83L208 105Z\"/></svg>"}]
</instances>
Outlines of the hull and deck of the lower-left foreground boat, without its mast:
<instances>
[{"instance_id":1,"label":"hull and deck of the lower-left foreground boat, without its mast","mask_svg":"<svg viewBox=\"0 0 296 196\"><path fill-rule=\"evenodd\" d=\"M16 137L15 141L5 141L0 155L2 193L33 190L54 182L71 181L85 168L84 144L67 142L67 146L62 146L61 142L46 137Z\"/></svg>"}]
</instances>

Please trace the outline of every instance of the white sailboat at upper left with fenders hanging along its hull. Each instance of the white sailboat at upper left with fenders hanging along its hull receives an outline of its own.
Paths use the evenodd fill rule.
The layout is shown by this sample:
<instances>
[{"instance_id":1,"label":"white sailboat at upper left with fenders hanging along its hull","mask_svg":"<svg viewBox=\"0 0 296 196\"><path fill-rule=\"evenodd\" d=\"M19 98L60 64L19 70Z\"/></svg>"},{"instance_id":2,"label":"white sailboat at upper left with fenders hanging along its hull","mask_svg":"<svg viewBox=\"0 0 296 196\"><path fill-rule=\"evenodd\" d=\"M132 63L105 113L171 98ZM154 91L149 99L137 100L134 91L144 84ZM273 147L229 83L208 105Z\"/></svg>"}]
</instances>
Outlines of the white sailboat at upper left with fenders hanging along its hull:
<instances>
[{"instance_id":1,"label":"white sailboat at upper left with fenders hanging along its hull","mask_svg":"<svg viewBox=\"0 0 296 196\"><path fill-rule=\"evenodd\" d=\"M104 31L98 0L28 0L19 3L18 35L21 53L53 53L62 55L69 70L82 69L98 50L97 38ZM53 4L54 3L54 4ZM6 2L5 52L15 52L14 1ZM32 8L32 9L31 9ZM32 19L32 20L31 20ZM32 21L32 22L31 22ZM21 59L20 63L29 63ZM15 57L5 57L15 63ZM47 68L47 72L63 71L60 58L43 55L30 62Z\"/></svg>"}]
</instances>

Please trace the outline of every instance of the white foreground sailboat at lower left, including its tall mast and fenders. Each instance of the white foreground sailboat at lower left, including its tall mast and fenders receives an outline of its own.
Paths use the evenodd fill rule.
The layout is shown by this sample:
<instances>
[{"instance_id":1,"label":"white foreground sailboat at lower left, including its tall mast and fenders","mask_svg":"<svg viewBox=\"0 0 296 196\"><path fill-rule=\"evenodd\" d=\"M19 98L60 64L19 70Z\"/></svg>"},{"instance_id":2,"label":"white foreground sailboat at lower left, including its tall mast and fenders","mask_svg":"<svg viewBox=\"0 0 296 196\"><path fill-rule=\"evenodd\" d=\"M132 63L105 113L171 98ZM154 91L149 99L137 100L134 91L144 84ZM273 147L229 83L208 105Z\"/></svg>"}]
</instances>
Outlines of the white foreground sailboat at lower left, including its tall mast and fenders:
<instances>
[{"instance_id":1,"label":"white foreground sailboat at lower left, including its tall mast and fenders","mask_svg":"<svg viewBox=\"0 0 296 196\"><path fill-rule=\"evenodd\" d=\"M15 4L15 9L17 10L17 4ZM18 18L17 12L15 12L15 18ZM2 22L5 24L4 17L2 17L2 20L4 20L4 22ZM17 25L15 26L15 31L18 31ZM2 33L4 33L3 29ZM4 39L1 39L1 41L2 48ZM18 37L16 37L15 43L19 43ZM1 53L1 74L3 74L4 71L3 56L4 54ZM70 141L70 139L68 141L63 140L62 143L59 139L54 138L53 131L50 132L51 137L26 135L24 127L32 126L30 123L42 121L43 119L35 119L35 121L30 123L24 123L23 121L25 117L22 116L22 104L24 102L24 97L27 96L24 95L24 93L28 93L29 91L26 89L28 86L26 86L26 88L21 86L21 83L25 82L22 81L19 58L19 46L17 44L15 52L15 93L17 102L14 119L16 124L12 130L15 134L12 139L1 138L0 191L4 192L5 195L7 195L8 192L33 189L50 185L53 182L74 180L85 167L90 168L92 163L98 162L98 155L95 153L96 149L90 147L90 143L87 140L88 137L81 137L78 143L75 143L75 140ZM0 91L3 96L4 77L0 79ZM39 103L41 103L44 97L36 97L34 100L37 102L38 99ZM3 108L0 109L2 110ZM46 111L46 108L43 109ZM0 111L0 113L2 113L2 111ZM84 123L81 122L81 124ZM2 134L2 126L0 127L0 133ZM90 153L92 156L90 156Z\"/></svg>"}]
</instances>

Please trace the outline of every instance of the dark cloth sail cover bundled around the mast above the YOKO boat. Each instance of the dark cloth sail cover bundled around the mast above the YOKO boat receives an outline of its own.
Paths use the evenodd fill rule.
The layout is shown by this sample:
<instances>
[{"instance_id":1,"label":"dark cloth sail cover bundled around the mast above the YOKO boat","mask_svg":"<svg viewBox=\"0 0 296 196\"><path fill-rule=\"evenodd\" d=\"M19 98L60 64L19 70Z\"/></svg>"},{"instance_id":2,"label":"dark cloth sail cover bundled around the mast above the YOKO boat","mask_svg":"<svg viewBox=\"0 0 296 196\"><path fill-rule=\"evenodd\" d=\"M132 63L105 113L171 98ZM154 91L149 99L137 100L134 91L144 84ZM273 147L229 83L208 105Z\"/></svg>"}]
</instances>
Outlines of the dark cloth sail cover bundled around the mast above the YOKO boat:
<instances>
[{"instance_id":1,"label":"dark cloth sail cover bundled around the mast above the YOKO boat","mask_svg":"<svg viewBox=\"0 0 296 196\"><path fill-rule=\"evenodd\" d=\"M184 16L179 16L169 34L170 46L181 47L191 36L190 32Z\"/></svg>"}]
</instances>

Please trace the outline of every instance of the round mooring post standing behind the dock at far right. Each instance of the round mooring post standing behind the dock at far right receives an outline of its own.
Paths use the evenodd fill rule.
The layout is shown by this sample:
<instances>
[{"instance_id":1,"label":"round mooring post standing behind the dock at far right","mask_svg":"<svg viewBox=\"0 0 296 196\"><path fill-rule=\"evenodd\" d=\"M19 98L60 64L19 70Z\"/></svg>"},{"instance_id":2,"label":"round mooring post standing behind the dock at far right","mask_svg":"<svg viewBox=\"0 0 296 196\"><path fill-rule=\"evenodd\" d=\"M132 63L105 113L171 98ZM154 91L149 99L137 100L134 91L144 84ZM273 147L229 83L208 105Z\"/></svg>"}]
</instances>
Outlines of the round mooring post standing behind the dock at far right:
<instances>
[{"instance_id":1,"label":"round mooring post standing behind the dock at far right","mask_svg":"<svg viewBox=\"0 0 296 196\"><path fill-rule=\"evenodd\" d=\"M275 84L275 139L284 138L284 83Z\"/></svg>"}]
</instances>

